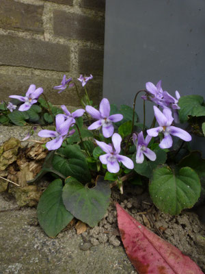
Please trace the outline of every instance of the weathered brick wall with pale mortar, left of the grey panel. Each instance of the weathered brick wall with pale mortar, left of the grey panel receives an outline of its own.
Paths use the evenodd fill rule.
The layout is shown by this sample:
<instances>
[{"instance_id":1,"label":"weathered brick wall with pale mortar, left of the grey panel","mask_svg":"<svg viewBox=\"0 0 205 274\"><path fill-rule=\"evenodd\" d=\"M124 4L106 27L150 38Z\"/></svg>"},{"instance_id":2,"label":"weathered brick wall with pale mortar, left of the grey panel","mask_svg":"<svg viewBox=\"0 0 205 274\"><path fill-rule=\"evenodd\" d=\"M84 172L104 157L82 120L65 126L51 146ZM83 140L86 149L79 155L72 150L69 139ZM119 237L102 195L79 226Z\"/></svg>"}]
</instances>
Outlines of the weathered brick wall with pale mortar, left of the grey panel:
<instances>
[{"instance_id":1,"label":"weathered brick wall with pale mortar, left of the grey panel","mask_svg":"<svg viewBox=\"0 0 205 274\"><path fill-rule=\"evenodd\" d=\"M104 21L105 0L0 0L0 101L36 84L51 103L79 106L74 88L57 94L53 86L64 74L77 79L91 73L87 89L97 103Z\"/></svg>"}]
</instances>

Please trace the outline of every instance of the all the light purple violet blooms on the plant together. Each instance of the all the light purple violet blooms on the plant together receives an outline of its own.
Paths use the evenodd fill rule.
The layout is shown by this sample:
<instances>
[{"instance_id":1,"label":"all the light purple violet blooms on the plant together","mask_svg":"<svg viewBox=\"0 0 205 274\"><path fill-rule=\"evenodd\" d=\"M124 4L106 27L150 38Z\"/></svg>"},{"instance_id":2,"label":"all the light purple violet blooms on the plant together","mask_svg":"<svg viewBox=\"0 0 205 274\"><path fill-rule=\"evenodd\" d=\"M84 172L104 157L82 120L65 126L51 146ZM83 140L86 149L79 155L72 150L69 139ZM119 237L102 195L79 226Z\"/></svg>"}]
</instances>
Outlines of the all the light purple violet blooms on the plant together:
<instances>
[{"instance_id":1,"label":"all the light purple violet blooms on the plant together","mask_svg":"<svg viewBox=\"0 0 205 274\"><path fill-rule=\"evenodd\" d=\"M87 82L92 78L92 75L90 75L90 77L83 77L83 75L80 75L78 80L81 82L82 86L85 87L85 84L87 84ZM54 86L53 88L55 90L59 90L58 93L60 93L66 88L71 88L72 86L74 86L72 83L72 78L70 77L66 79L66 75L64 75L61 81L61 85ZM148 90L148 93L142 98L145 100L153 101L158 105L158 107L154 105L154 115L156 117L156 121L159 123L159 127L148 129L146 131L148 134L146 138L144 138L143 132L139 132L139 134L133 134L133 142L137 149L137 164L143 163L144 156L146 156L150 161L156 160L156 154L148 147L152 137L159 135L162 136L161 134L163 134L163 138L161 138L159 142L159 147L161 147L161 149L169 149L172 147L172 136L177 136L178 138L181 138L185 141L191 140L191 135L188 132L184 131L184 129L180 129L179 127L172 125L173 121L178 121L178 110L180 109L178 106L178 100L180 99L179 92L176 90L176 98L172 97L172 95L169 95L167 91L162 89L161 81L159 81L156 86L154 86L154 84L151 82L147 82L146 89ZM10 98L23 101L24 103L20 105L18 110L26 111L31 108L31 105L38 101L38 97L40 97L42 92L42 88L36 89L36 86L31 84L26 92L25 97L11 95ZM86 90L85 92L87 95ZM159 107L163 108L163 110L159 110ZM7 108L10 110L10 112L12 112L17 108L17 106L13 105L12 103L8 103ZM85 110L79 109L72 113L68 111L66 105L61 105L61 109L64 111L64 114L57 114L55 116L55 131L42 129L38 133L38 136L40 137L53 138L49 142L46 142L47 149L59 149L64 139L74 134L74 129L72 129L72 127L76 123L75 119L77 117L83 116L86 111L87 114L92 116L92 119L96 120L87 129L102 129L102 134L105 138L111 137L112 143L110 144L95 140L96 144L102 149L102 151L105 152L105 154L100 155L100 162L107 165L107 170L110 173L118 173L120 171L119 163L124 164L127 169L134 168L133 161L130 158L125 155L120 155L122 137L120 134L114 133L113 123L122 121L123 116L122 114L110 115L111 107L108 99L102 99L100 102L99 110L96 110L96 108L94 108L92 105L86 105ZM174 117L172 116L172 112ZM31 133L29 133L24 140L27 140L29 136L31 136Z\"/></svg>"}]
</instances>

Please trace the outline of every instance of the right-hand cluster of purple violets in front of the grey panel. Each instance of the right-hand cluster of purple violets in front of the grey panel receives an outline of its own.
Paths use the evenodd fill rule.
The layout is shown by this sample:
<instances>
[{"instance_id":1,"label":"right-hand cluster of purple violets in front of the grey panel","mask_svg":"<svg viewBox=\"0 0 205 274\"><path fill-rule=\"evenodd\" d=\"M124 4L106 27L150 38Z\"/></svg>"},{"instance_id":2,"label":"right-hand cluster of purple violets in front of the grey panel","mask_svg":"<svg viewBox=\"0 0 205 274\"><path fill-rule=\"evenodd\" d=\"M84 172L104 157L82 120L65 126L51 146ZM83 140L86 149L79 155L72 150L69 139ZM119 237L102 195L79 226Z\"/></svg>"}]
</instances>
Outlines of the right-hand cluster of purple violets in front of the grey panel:
<instances>
[{"instance_id":1,"label":"right-hand cluster of purple violets in front of the grey panel","mask_svg":"<svg viewBox=\"0 0 205 274\"><path fill-rule=\"evenodd\" d=\"M179 127L175 127L172 125L173 121L178 123L178 110L180 107L178 106L178 100L180 99L180 94L176 90L176 99L169 95L167 91L163 91L161 88L161 81L159 81L156 86L151 82L146 83L146 89L148 90L148 96L142 96L141 98L144 100L150 99L157 105L163 108L163 111L159 110L154 105L154 116L156 121L159 123L159 127L154 127L147 130L148 136L146 139L143 138L143 132L137 134L133 134L133 142L137 147L137 154L136 154L136 162L137 164L141 164L143 162L144 156L151 160L156 160L156 154L148 149L148 144L152 137L156 137L159 135L160 132L163 133L163 138L159 143L159 147L161 149L169 149L172 147L172 136L177 136L184 141L189 142L191 140L191 135L186 132L184 129L180 129ZM172 116L172 110L174 117Z\"/></svg>"}]
</instances>

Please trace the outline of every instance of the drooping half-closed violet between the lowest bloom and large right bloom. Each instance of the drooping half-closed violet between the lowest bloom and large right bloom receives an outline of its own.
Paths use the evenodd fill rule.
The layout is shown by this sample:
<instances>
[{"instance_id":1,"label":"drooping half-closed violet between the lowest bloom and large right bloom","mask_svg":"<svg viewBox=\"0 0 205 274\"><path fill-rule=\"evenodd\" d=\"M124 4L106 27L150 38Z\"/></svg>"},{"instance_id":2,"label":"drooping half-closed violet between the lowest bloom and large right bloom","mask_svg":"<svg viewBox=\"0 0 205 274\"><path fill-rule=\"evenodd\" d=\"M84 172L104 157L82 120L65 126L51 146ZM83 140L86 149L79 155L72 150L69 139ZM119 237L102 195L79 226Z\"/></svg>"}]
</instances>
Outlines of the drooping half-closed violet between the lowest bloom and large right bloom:
<instances>
[{"instance_id":1,"label":"drooping half-closed violet between the lowest bloom and large right bloom","mask_svg":"<svg viewBox=\"0 0 205 274\"><path fill-rule=\"evenodd\" d=\"M143 159L144 159L143 154L146 155L146 157L150 159L150 161L156 160L156 154L154 153L154 151L152 151L151 149L148 149L148 144L151 139L152 137L148 135L146 136L146 139L144 140L143 132L139 132L138 136L135 133L133 134L133 142L135 146L137 147L137 154L136 154L137 164L143 163Z\"/></svg>"}]
</instances>

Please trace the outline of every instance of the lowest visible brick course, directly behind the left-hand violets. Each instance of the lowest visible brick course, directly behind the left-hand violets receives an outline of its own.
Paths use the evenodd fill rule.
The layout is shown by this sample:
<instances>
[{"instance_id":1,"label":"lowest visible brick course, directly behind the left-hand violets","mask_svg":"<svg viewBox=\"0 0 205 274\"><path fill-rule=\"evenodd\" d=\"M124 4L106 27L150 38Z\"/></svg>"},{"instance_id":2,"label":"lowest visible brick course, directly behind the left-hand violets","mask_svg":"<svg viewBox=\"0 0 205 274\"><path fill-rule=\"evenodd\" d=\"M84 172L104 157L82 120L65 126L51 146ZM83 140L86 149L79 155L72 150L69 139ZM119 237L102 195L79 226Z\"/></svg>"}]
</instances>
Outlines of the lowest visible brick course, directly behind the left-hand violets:
<instances>
[{"instance_id":1,"label":"lowest visible brick course, directly behind the left-hand violets","mask_svg":"<svg viewBox=\"0 0 205 274\"><path fill-rule=\"evenodd\" d=\"M66 75L69 77L69 75ZM63 75L62 75L63 77ZM12 80L11 80L12 79ZM25 95L30 84L35 84L36 88L42 87L44 94L49 101L55 105L81 105L75 88L68 88L61 93L57 93L58 90L54 90L53 86L57 86L61 83L62 79L58 77L40 77L40 76L25 76L25 75L5 75L0 74L0 99L10 101L9 95ZM80 95L84 95L84 90L81 87L80 82L77 82ZM99 82L88 82L87 92L94 103L99 102L99 97L102 94L102 80Z\"/></svg>"}]
</instances>

